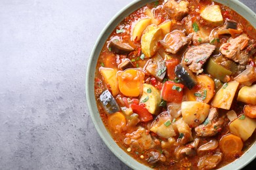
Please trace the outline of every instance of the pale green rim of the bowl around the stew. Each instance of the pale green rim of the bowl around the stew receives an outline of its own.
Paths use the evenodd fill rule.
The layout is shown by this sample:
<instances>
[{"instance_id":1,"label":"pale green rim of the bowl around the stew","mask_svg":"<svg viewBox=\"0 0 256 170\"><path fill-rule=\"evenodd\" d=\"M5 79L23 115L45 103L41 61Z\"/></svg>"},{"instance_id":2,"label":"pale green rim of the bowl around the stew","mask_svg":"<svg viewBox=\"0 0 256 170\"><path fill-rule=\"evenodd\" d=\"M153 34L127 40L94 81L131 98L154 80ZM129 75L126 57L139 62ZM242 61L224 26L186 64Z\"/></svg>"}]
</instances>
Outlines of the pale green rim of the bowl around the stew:
<instances>
[{"instance_id":1,"label":"pale green rim of the bowl around the stew","mask_svg":"<svg viewBox=\"0 0 256 170\"><path fill-rule=\"evenodd\" d=\"M95 42L95 45L93 46L93 50L91 52L91 56L89 58L89 63L87 65L87 75L86 75L86 83L85 83L85 94L87 98L87 105L89 108L89 112L91 115L91 118L93 120L93 124L96 127L96 131L98 131L98 134L108 146L108 148L119 158L119 160L123 161L126 165L131 167L132 169L150 169L150 167L147 167L146 165L143 165L142 163L139 163L139 161L133 159L129 154L127 154L124 150L122 150L115 142L114 139L112 139L110 133L106 130L104 127L104 124L100 118L100 114L98 112L98 109L96 107L96 101L95 101L95 93L94 93L94 78L95 78L95 69L96 69L96 62L98 60L98 56L100 54L100 51L102 50L102 47L114 28L129 14L134 12L135 10L139 9L140 7L146 5L146 3L151 3L156 0L135 0L131 2L126 7L123 7L117 14L108 22L108 24L104 27L104 29L101 31L100 35L98 36L98 39ZM226 5L230 7L231 9L240 9L239 11L235 10L243 16L248 22L253 25L253 27L256 27L256 14L251 9L249 9L247 6L245 6L243 3L241 3L238 0L214 0L217 3L221 3L223 5ZM100 120L100 121L98 121ZM229 163L228 165L221 167L220 169L242 169L247 165L249 162L254 160L256 157L256 146L255 143L245 152L241 158L238 158L236 161L233 161L232 163Z\"/></svg>"}]
</instances>

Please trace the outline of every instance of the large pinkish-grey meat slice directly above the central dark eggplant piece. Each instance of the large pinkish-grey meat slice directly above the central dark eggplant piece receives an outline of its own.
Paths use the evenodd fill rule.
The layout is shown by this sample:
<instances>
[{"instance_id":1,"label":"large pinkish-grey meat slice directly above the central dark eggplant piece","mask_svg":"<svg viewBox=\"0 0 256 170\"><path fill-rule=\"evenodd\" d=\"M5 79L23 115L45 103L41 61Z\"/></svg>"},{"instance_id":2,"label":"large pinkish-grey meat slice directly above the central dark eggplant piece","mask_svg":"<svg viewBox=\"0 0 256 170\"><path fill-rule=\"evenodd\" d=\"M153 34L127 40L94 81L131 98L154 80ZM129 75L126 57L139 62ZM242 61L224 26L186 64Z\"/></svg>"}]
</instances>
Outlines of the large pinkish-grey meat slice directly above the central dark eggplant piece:
<instances>
[{"instance_id":1,"label":"large pinkish-grey meat slice directly above the central dark eggplant piece","mask_svg":"<svg viewBox=\"0 0 256 170\"><path fill-rule=\"evenodd\" d=\"M184 54L183 63L188 65L188 68L194 73L203 72L203 64L207 61L209 56L215 50L215 45L212 44L200 44L198 46L192 46Z\"/></svg>"}]
</instances>

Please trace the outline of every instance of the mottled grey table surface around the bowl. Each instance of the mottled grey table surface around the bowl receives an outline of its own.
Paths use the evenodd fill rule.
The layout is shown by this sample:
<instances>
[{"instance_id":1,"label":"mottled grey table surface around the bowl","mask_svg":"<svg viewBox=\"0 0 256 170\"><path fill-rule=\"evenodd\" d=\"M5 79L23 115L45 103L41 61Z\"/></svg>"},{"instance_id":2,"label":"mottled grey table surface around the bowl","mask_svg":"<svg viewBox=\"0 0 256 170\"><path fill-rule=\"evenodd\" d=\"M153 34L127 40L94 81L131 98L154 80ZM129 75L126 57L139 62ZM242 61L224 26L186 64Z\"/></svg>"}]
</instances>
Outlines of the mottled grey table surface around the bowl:
<instances>
[{"instance_id":1,"label":"mottled grey table surface around the bowl","mask_svg":"<svg viewBox=\"0 0 256 170\"><path fill-rule=\"evenodd\" d=\"M256 11L255 0L242 2ZM85 99L93 44L128 3L0 1L0 169L129 169L100 139Z\"/></svg>"}]
</instances>

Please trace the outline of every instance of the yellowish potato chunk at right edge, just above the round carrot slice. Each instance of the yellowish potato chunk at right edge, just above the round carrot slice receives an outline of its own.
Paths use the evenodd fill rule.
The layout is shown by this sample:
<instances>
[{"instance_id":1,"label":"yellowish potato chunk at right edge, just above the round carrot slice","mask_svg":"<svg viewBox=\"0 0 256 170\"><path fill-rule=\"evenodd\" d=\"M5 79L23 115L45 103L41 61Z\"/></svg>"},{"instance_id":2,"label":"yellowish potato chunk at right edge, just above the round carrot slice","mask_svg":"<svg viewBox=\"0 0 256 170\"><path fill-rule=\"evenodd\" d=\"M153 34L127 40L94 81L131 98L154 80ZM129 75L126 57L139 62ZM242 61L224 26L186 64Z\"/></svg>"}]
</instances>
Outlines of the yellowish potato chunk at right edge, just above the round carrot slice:
<instances>
[{"instance_id":1,"label":"yellowish potato chunk at right edge, just above the round carrot slice","mask_svg":"<svg viewBox=\"0 0 256 170\"><path fill-rule=\"evenodd\" d=\"M230 132L246 141L256 127L256 120L242 114L229 124Z\"/></svg>"}]
</instances>

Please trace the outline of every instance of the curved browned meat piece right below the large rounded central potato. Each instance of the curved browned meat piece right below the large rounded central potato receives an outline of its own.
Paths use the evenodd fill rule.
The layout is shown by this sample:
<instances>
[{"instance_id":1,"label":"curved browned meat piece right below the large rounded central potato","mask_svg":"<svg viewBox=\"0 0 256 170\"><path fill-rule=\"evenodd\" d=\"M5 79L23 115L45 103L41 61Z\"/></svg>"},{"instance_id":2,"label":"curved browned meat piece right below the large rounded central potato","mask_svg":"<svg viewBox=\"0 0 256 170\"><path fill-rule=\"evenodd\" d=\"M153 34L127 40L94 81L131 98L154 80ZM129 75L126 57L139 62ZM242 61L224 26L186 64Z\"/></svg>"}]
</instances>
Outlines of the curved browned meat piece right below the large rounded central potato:
<instances>
[{"instance_id":1,"label":"curved browned meat piece right below the large rounded central potato","mask_svg":"<svg viewBox=\"0 0 256 170\"><path fill-rule=\"evenodd\" d=\"M205 122L198 127L195 127L196 135L200 137L212 137L219 132L219 129L223 127L224 119L219 118L219 114L216 108L211 108L209 115Z\"/></svg>"}]
</instances>

